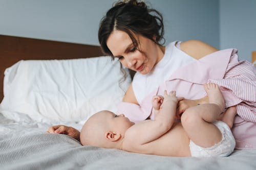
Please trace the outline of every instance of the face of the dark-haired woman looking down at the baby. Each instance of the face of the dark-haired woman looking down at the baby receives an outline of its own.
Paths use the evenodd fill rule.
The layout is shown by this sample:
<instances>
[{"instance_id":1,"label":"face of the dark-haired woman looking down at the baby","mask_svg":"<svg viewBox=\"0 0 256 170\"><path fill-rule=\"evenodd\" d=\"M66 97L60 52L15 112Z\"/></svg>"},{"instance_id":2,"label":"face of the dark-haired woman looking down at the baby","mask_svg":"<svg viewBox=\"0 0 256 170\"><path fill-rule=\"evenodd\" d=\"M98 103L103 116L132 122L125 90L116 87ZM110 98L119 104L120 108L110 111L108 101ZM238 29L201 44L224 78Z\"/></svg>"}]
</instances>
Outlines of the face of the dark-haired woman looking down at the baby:
<instances>
[{"instance_id":1,"label":"face of the dark-haired woman looking down at the baby","mask_svg":"<svg viewBox=\"0 0 256 170\"><path fill-rule=\"evenodd\" d=\"M114 30L106 41L106 45L123 66L138 71L143 75L148 74L162 59L163 52L159 45L151 39L136 34L134 37L138 42L138 47L134 46L127 33Z\"/></svg>"}]
</instances>

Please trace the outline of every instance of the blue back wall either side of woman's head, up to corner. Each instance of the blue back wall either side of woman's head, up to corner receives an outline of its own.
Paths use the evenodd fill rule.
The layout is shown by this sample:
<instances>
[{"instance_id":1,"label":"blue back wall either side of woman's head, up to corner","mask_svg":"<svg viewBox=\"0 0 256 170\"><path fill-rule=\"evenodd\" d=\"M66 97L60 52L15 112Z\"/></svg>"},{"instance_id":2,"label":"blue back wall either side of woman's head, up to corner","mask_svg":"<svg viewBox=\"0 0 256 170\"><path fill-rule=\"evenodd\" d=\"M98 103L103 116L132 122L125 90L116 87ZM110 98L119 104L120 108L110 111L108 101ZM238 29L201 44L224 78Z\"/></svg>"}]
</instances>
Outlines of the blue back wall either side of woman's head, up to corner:
<instances>
[{"instance_id":1,"label":"blue back wall either side of woman's head, up to corner","mask_svg":"<svg viewBox=\"0 0 256 170\"><path fill-rule=\"evenodd\" d=\"M0 34L98 44L99 20L115 0L0 0ZM200 39L219 47L219 1L151 0L166 43Z\"/></svg>"}]
</instances>

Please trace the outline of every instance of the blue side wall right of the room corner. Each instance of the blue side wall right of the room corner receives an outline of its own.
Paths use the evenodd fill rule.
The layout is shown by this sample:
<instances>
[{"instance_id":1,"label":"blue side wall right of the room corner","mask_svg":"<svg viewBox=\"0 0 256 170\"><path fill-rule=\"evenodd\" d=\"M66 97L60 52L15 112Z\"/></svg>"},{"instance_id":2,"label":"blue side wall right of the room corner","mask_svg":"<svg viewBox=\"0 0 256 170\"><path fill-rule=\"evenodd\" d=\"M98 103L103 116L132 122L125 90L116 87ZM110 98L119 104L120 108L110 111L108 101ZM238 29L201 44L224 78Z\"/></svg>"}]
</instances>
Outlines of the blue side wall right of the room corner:
<instances>
[{"instance_id":1,"label":"blue side wall right of the room corner","mask_svg":"<svg viewBox=\"0 0 256 170\"><path fill-rule=\"evenodd\" d=\"M256 1L220 0L220 48L238 48L239 58L251 62L256 51Z\"/></svg>"}]
</instances>

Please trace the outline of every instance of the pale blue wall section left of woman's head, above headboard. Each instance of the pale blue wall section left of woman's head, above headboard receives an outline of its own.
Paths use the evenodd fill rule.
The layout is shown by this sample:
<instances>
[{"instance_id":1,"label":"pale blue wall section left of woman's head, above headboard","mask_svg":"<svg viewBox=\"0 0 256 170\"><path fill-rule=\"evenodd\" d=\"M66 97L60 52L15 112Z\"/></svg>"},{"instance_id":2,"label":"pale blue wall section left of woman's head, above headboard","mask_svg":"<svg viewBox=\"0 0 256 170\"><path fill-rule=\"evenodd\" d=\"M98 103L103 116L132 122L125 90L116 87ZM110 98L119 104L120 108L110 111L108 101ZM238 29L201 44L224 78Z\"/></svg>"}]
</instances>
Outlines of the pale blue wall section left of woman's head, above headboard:
<instances>
[{"instance_id":1,"label":"pale blue wall section left of woman's head, above headboard","mask_svg":"<svg viewBox=\"0 0 256 170\"><path fill-rule=\"evenodd\" d=\"M0 34L98 44L97 30L112 1L0 0Z\"/></svg>"}]
</instances>

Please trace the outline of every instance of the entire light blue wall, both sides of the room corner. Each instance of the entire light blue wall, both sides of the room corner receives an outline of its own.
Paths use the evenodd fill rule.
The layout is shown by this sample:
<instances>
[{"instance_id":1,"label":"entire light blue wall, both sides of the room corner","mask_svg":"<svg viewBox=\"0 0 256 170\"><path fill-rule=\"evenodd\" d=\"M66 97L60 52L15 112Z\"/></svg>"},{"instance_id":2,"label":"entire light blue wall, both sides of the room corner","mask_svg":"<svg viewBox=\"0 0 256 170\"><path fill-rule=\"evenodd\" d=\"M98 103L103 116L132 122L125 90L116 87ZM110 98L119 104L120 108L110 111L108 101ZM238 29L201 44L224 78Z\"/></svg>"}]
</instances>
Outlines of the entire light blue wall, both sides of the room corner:
<instances>
[{"instance_id":1,"label":"entire light blue wall, both sides of the room corner","mask_svg":"<svg viewBox=\"0 0 256 170\"><path fill-rule=\"evenodd\" d=\"M98 45L99 21L115 0L0 0L0 34ZM147 0L164 16L166 43L199 39L256 50L256 0Z\"/></svg>"}]
</instances>

